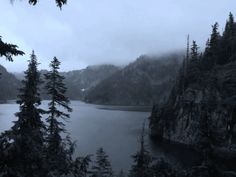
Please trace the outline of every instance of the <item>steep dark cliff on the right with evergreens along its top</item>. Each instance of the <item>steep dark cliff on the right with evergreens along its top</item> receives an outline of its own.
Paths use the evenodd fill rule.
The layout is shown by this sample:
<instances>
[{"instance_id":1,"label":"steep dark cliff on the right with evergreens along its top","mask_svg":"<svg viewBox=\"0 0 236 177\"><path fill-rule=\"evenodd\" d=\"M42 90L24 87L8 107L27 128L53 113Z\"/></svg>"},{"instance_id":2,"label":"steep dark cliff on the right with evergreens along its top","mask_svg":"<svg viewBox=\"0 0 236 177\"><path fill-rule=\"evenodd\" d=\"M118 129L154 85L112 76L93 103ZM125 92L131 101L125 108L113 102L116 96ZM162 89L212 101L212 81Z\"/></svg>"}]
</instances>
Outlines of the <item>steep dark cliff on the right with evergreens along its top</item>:
<instances>
[{"instance_id":1,"label":"steep dark cliff on the right with evergreens along its top","mask_svg":"<svg viewBox=\"0 0 236 177\"><path fill-rule=\"evenodd\" d=\"M230 14L223 34L218 24L205 51L195 41L164 104L150 117L151 136L188 145L203 141L214 147L235 145L236 132L236 23ZM189 41L189 40L188 40ZM234 145L233 145L234 144Z\"/></svg>"}]
</instances>

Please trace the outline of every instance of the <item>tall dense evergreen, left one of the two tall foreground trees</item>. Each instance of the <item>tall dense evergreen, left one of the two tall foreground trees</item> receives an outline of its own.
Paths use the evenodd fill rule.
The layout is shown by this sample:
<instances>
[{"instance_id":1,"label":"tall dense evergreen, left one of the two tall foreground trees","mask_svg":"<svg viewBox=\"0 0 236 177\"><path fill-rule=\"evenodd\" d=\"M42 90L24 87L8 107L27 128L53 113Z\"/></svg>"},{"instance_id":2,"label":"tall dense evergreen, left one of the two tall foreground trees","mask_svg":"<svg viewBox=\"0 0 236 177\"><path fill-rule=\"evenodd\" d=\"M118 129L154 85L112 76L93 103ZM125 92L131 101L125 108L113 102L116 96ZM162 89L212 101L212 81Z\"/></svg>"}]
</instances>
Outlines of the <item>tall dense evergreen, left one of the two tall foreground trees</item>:
<instances>
[{"instance_id":1,"label":"tall dense evergreen, left one of the two tall foreground trees","mask_svg":"<svg viewBox=\"0 0 236 177\"><path fill-rule=\"evenodd\" d=\"M34 52L31 54L28 69L25 72L23 87L17 103L20 111L13 127L1 135L0 174L14 177L43 177L44 169L44 123L41 121L42 110L38 86L40 75Z\"/></svg>"}]
</instances>

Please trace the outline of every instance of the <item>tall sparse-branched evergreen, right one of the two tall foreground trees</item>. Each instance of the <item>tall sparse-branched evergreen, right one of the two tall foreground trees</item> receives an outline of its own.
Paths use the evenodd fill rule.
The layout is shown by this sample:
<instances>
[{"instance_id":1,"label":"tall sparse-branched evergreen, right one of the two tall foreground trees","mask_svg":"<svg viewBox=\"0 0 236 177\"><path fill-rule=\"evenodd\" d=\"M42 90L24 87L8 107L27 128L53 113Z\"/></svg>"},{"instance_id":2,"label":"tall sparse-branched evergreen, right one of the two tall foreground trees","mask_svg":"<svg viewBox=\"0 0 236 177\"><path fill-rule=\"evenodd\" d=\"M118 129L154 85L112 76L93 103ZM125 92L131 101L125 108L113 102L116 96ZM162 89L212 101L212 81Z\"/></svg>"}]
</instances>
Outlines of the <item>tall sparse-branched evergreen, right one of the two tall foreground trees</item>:
<instances>
[{"instance_id":1,"label":"tall sparse-branched evergreen, right one of the two tall foreground trees","mask_svg":"<svg viewBox=\"0 0 236 177\"><path fill-rule=\"evenodd\" d=\"M69 137L62 139L61 133L65 132L64 124L60 119L69 118L69 114L64 111L71 112L69 107L69 99L65 97L66 87L63 83L64 77L58 72L60 62L56 57L50 64L51 71L45 74L47 94L50 97L48 104L49 110L47 128L47 159L49 165L49 171L56 176L69 173L70 158L72 149L67 149L65 145L73 146ZM59 110L58 107L62 107L66 110ZM65 144L64 144L65 143ZM71 147L72 148L72 147Z\"/></svg>"}]
</instances>

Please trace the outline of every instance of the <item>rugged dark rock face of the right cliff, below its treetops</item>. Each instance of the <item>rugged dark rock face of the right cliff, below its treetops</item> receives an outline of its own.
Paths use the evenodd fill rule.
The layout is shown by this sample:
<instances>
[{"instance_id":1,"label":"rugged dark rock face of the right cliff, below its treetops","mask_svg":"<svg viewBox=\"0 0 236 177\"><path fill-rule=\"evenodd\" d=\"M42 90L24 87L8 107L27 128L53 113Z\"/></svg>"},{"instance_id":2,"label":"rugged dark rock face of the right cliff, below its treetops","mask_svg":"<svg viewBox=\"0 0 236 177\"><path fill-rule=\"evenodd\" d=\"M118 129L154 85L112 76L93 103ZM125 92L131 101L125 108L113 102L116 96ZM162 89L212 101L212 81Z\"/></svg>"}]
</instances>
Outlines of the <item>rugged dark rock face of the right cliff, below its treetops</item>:
<instances>
[{"instance_id":1,"label":"rugged dark rock face of the right cliff, below its treetops","mask_svg":"<svg viewBox=\"0 0 236 177\"><path fill-rule=\"evenodd\" d=\"M194 145L201 139L201 121L206 116L214 143L231 141L236 116L236 63L196 75L197 80L192 76L179 78L167 103L153 108L152 135Z\"/></svg>"}]
</instances>

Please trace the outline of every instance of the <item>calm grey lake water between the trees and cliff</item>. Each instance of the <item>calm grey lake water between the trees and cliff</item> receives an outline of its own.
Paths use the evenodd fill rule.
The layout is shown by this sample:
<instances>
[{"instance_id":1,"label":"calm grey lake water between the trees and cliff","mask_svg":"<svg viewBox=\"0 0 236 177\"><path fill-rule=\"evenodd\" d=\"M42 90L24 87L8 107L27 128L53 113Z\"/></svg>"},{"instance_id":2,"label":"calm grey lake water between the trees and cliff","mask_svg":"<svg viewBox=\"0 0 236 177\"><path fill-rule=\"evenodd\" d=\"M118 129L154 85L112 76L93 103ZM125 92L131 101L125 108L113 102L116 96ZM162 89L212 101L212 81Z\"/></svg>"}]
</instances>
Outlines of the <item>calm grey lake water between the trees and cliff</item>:
<instances>
[{"instance_id":1,"label":"calm grey lake water between the trees and cliff","mask_svg":"<svg viewBox=\"0 0 236 177\"><path fill-rule=\"evenodd\" d=\"M47 101L43 101L41 107L46 108ZM140 146L142 124L150 115L148 108L99 106L80 101L72 101L71 107L73 112L66 123L66 129L77 142L76 154L95 154L98 148L103 147L115 171L128 171L132 164L131 155ZM0 104L0 132L13 125L12 121L16 120L14 113L18 110L19 106L14 102ZM147 124L148 121L146 132ZM148 136L145 143L154 156L167 158L173 163L186 162L184 165L189 165L189 161L186 161L188 150L180 147L176 151L176 147L170 145L153 144Z\"/></svg>"}]
</instances>

